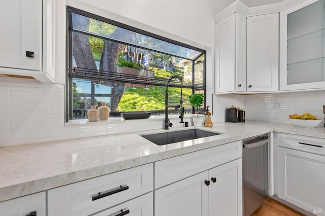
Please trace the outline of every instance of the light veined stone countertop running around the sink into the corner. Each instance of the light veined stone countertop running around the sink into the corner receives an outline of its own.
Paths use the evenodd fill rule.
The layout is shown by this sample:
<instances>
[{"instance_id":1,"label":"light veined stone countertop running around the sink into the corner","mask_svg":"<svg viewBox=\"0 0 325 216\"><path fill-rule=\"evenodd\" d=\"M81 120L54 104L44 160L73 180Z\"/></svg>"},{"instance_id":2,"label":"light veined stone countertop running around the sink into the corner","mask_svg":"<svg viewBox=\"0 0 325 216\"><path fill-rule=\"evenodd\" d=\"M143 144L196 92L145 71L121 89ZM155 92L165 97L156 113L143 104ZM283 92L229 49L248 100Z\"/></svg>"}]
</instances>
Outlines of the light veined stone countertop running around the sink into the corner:
<instances>
[{"instance_id":1,"label":"light veined stone countertop running around the sink into the corner","mask_svg":"<svg viewBox=\"0 0 325 216\"><path fill-rule=\"evenodd\" d=\"M325 138L325 129L284 123L215 123L222 134L157 146L139 134L164 129L0 147L0 201L45 191L119 170L195 152L268 132ZM193 128L193 127L189 127ZM169 131L184 130L185 127Z\"/></svg>"}]
</instances>

